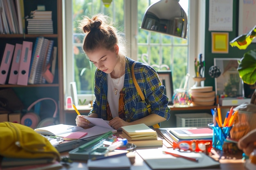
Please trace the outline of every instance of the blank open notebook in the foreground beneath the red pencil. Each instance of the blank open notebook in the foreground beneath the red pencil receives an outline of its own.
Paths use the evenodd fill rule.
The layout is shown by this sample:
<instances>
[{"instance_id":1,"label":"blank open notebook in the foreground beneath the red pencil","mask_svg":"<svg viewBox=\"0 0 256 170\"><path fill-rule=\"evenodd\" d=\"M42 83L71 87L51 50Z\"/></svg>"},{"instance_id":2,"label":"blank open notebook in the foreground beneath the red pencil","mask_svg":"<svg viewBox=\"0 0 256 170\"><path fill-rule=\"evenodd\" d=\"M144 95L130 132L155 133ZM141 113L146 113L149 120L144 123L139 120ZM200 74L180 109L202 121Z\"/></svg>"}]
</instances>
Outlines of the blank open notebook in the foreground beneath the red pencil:
<instances>
[{"instance_id":1,"label":"blank open notebook in the foreground beneath the red pencil","mask_svg":"<svg viewBox=\"0 0 256 170\"><path fill-rule=\"evenodd\" d=\"M201 152L180 152L171 148L154 148L136 150L142 159L152 170L177 170L177 169L199 169L199 168L218 168L220 163ZM166 154L164 152L176 154ZM194 158L198 161L184 159L184 157Z\"/></svg>"}]
</instances>

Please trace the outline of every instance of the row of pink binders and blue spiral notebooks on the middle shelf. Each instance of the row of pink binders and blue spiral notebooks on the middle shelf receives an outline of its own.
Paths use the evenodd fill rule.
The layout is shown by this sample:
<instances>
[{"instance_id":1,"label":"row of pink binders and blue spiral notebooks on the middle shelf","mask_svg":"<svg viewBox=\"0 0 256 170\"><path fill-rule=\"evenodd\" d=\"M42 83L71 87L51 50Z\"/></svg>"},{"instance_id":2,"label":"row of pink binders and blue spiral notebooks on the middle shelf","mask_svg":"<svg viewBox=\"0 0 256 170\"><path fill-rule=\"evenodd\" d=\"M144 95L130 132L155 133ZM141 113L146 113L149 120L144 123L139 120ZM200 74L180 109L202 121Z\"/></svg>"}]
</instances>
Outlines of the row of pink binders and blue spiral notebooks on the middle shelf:
<instances>
[{"instance_id":1,"label":"row of pink binders and blue spiral notebooks on the middle shelf","mask_svg":"<svg viewBox=\"0 0 256 170\"><path fill-rule=\"evenodd\" d=\"M52 83L57 60L54 41L37 37L36 42L6 43L0 63L0 84Z\"/></svg>"}]
</instances>

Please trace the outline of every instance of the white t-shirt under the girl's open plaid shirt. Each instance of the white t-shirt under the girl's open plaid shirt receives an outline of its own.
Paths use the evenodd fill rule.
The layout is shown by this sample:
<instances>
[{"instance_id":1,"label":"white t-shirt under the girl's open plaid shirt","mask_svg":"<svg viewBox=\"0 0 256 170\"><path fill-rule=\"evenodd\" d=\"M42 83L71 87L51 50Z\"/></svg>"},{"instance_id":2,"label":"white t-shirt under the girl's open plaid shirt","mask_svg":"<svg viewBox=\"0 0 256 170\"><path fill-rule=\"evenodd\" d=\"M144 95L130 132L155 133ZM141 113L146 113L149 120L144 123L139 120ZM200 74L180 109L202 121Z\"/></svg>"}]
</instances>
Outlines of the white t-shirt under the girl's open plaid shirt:
<instances>
[{"instance_id":1,"label":"white t-shirt under the girl's open plaid shirt","mask_svg":"<svg viewBox=\"0 0 256 170\"><path fill-rule=\"evenodd\" d=\"M113 79L110 74L108 74L108 104L113 118L118 117L119 93L124 87L124 75ZM115 95L115 88L117 88L117 95Z\"/></svg>"}]
</instances>

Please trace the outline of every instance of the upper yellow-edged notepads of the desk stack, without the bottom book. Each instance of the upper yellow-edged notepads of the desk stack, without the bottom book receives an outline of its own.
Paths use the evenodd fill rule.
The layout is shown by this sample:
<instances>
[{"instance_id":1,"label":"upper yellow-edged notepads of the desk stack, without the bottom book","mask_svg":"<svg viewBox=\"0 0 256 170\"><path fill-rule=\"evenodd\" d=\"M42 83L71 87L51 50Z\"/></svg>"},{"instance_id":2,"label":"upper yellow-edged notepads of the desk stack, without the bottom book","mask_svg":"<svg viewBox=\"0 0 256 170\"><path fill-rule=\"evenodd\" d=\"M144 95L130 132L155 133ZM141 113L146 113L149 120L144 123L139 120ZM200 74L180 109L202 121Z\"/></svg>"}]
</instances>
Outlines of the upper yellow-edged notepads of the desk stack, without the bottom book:
<instances>
[{"instance_id":1,"label":"upper yellow-edged notepads of the desk stack, without the bottom book","mask_svg":"<svg viewBox=\"0 0 256 170\"><path fill-rule=\"evenodd\" d=\"M136 124L136 125L129 125L129 126L122 126L122 135L128 139L128 141L134 140L150 140L150 139L157 139L157 132L146 124Z\"/></svg>"}]
</instances>

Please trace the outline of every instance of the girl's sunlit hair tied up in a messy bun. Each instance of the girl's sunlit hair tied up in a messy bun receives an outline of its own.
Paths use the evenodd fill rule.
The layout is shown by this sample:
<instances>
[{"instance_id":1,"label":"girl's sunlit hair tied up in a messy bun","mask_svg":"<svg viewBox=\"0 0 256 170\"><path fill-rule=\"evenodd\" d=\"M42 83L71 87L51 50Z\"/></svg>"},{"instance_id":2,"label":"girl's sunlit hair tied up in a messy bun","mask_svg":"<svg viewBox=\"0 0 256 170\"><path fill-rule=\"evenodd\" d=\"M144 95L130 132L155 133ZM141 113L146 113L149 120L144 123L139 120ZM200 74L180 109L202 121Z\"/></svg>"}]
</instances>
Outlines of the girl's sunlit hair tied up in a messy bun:
<instances>
[{"instance_id":1,"label":"girl's sunlit hair tied up in a messy bun","mask_svg":"<svg viewBox=\"0 0 256 170\"><path fill-rule=\"evenodd\" d=\"M112 25L110 18L102 13L94 15L92 18L83 16L83 19L79 21L79 28L86 34L83 39L85 54L100 47L114 51L114 46L117 44L119 46L119 57L125 58L125 40Z\"/></svg>"}]
</instances>

